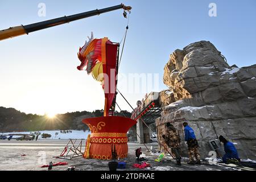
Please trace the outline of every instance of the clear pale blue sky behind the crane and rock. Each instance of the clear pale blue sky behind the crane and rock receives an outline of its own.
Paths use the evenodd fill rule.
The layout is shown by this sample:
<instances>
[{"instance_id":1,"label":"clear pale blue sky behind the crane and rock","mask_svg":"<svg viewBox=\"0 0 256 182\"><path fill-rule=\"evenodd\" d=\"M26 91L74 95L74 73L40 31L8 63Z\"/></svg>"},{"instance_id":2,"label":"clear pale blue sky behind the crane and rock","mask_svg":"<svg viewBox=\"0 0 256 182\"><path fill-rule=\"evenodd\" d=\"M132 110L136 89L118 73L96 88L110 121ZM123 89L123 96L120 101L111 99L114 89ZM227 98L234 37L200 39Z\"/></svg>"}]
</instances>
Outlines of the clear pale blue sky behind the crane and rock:
<instances>
[{"instance_id":1,"label":"clear pale blue sky behind the crane and rock","mask_svg":"<svg viewBox=\"0 0 256 182\"><path fill-rule=\"evenodd\" d=\"M217 17L208 15L216 3ZM46 4L46 17L38 16L38 4ZM229 65L255 64L256 1L0 1L0 29L26 25L64 15L124 3L133 7L120 73L159 74L170 54L190 43L209 40L226 57ZM0 42L0 105L26 113L65 113L102 109L104 94L98 82L77 71L77 51L86 37L108 36L119 42L127 19L122 10L93 16ZM119 80L119 90L127 82ZM135 106L146 94L128 93ZM120 96L121 108L131 110Z\"/></svg>"}]
</instances>

